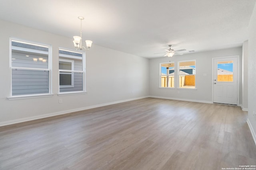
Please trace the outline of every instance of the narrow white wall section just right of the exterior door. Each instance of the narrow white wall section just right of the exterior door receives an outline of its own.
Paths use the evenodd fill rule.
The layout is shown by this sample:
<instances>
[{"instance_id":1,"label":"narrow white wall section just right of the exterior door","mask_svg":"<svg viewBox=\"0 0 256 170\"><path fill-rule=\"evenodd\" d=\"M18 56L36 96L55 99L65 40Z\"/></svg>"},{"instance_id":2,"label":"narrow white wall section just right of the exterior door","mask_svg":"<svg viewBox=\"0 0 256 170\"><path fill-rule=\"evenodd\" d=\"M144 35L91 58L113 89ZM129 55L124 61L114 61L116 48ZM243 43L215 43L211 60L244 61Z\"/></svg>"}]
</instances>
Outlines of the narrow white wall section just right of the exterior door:
<instances>
[{"instance_id":1,"label":"narrow white wall section just right of the exterior door","mask_svg":"<svg viewBox=\"0 0 256 170\"><path fill-rule=\"evenodd\" d=\"M242 51L242 109L248 111L248 41L244 41Z\"/></svg>"}]
</instances>

